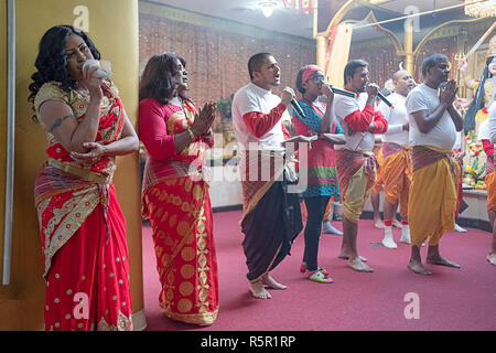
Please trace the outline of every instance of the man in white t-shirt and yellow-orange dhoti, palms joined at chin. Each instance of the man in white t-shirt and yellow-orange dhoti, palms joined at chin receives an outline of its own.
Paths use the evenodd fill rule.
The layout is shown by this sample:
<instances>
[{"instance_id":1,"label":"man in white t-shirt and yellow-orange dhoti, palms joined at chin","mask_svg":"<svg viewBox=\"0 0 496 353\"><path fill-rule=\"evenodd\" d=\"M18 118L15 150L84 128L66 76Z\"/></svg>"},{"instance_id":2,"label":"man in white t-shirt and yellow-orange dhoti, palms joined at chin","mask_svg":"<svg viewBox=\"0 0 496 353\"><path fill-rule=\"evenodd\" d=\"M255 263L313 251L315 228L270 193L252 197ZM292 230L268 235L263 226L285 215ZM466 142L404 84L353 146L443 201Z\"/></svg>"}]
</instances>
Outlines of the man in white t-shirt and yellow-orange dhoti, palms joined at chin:
<instances>
[{"instance_id":1,"label":"man in white t-shirt and yellow-orange dhoti, palms joined at chin","mask_svg":"<svg viewBox=\"0 0 496 353\"><path fill-rule=\"evenodd\" d=\"M457 86L454 79L445 88L441 83L450 74L448 57L433 54L422 63L423 83L413 88L406 106L413 147L413 176L408 203L411 256L408 267L416 274L431 275L420 258L420 247L429 238L427 263L460 268L442 257L439 240L454 229L460 167L453 158L456 131L463 119L454 108Z\"/></svg>"}]
</instances>

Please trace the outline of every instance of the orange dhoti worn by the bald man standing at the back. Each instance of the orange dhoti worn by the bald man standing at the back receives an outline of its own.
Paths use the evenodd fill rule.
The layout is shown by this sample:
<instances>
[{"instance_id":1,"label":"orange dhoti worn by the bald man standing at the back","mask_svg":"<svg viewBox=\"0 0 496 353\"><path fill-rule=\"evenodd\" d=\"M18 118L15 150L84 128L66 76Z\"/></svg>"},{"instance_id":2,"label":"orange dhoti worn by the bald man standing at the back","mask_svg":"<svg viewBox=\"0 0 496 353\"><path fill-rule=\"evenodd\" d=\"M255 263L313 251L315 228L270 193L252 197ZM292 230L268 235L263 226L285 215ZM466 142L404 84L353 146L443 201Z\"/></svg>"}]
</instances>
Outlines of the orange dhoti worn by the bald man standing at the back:
<instances>
[{"instance_id":1,"label":"orange dhoti worn by the bald man standing at the back","mask_svg":"<svg viewBox=\"0 0 496 353\"><path fill-rule=\"evenodd\" d=\"M384 161L380 168L384 194L391 205L399 201L401 218L406 220L412 178L410 152L396 143L385 143L384 149Z\"/></svg>"}]
</instances>

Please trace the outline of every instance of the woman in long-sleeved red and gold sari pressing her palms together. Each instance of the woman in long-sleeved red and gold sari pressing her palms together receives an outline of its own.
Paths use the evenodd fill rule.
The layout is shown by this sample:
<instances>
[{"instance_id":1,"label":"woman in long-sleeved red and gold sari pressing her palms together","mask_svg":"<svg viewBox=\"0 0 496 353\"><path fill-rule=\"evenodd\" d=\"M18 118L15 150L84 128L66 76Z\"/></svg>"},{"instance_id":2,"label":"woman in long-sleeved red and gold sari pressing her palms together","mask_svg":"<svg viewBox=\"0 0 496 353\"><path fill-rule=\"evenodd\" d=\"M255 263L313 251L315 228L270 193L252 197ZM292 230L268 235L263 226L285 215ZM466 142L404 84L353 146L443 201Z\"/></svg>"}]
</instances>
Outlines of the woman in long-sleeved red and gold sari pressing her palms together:
<instances>
[{"instance_id":1,"label":"woman in long-sleeved red and gold sari pressing her palms together","mask_svg":"<svg viewBox=\"0 0 496 353\"><path fill-rule=\"evenodd\" d=\"M203 168L214 143L215 103L200 113L186 98L185 61L154 55L140 84L140 139L147 149L142 200L150 218L162 291L159 302L177 321L212 324L218 277L212 206Z\"/></svg>"}]
</instances>

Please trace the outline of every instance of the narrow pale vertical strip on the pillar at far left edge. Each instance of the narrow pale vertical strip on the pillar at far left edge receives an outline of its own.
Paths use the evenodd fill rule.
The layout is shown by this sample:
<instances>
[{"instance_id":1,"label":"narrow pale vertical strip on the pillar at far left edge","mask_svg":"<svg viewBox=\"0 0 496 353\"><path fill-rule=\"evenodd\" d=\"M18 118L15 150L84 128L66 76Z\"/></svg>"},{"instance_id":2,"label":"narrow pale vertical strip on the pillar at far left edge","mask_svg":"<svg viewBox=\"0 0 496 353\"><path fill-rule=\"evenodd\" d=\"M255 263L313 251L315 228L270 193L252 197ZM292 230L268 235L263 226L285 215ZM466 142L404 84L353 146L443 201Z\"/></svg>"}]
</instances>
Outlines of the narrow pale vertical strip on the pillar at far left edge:
<instances>
[{"instance_id":1,"label":"narrow pale vertical strip on the pillar at far left edge","mask_svg":"<svg viewBox=\"0 0 496 353\"><path fill-rule=\"evenodd\" d=\"M2 285L10 284L15 132L15 0L7 1L7 165Z\"/></svg>"}]
</instances>

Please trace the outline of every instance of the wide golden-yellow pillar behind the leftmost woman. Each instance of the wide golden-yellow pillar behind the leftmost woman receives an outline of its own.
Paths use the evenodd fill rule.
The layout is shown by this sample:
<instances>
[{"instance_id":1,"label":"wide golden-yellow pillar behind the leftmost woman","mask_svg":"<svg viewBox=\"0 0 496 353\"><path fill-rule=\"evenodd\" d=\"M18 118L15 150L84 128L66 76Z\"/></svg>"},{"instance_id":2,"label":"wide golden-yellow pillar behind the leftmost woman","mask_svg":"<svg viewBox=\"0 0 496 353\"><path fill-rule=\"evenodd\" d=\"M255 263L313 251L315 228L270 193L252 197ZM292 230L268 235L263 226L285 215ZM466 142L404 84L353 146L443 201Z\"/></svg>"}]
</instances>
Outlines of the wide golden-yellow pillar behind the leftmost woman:
<instances>
[{"instance_id":1,"label":"wide golden-yellow pillar behind the leftmost woman","mask_svg":"<svg viewBox=\"0 0 496 353\"><path fill-rule=\"evenodd\" d=\"M3 3L1 10L3 15ZM103 58L112 64L112 79L126 111L138 121L138 0L17 0L15 178L11 285L0 290L0 329L43 329L44 282L34 180L45 160L46 137L31 120L28 85L34 73L43 33L56 24L87 25ZM83 6L82 6L83 4ZM2 20L2 19L0 19ZM3 23L3 22L2 22ZM6 31L0 44L4 43ZM3 55L3 52L0 52ZM3 56L2 56L3 57ZM4 61L1 61L3 65ZM3 67L3 66L2 66ZM3 85L4 72L0 71ZM2 86L3 87L3 86ZM3 89L1 89L3 92ZM0 98L3 98L1 94ZM0 113L3 111L0 108ZM0 115L1 126L4 114ZM0 133L3 130L0 128ZM2 157L3 158L3 157ZM3 160L0 160L3 161ZM119 157L115 184L126 216L133 314L142 314L140 175L138 153Z\"/></svg>"}]
</instances>

